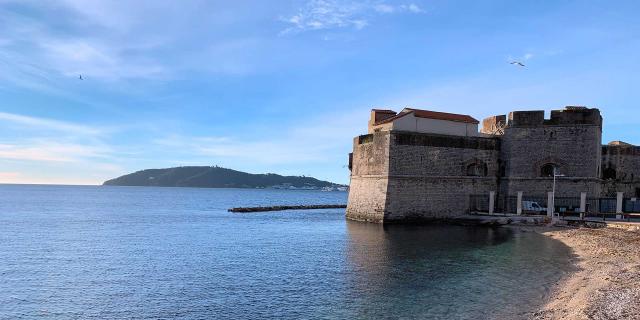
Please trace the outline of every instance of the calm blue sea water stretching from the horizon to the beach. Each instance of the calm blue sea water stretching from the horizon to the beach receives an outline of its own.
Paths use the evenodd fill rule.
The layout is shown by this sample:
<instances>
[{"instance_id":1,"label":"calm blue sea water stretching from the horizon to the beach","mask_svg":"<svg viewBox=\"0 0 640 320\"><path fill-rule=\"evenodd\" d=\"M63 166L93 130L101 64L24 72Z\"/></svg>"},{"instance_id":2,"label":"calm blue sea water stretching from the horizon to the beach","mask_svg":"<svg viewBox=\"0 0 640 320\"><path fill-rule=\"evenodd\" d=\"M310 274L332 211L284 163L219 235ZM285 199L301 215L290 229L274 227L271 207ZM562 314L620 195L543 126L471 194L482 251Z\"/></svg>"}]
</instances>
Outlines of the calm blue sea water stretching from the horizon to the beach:
<instances>
[{"instance_id":1,"label":"calm blue sea water stretching from the horizon to the beach","mask_svg":"<svg viewBox=\"0 0 640 320\"><path fill-rule=\"evenodd\" d=\"M525 318L570 268L535 233L226 212L346 198L0 185L0 318Z\"/></svg>"}]
</instances>

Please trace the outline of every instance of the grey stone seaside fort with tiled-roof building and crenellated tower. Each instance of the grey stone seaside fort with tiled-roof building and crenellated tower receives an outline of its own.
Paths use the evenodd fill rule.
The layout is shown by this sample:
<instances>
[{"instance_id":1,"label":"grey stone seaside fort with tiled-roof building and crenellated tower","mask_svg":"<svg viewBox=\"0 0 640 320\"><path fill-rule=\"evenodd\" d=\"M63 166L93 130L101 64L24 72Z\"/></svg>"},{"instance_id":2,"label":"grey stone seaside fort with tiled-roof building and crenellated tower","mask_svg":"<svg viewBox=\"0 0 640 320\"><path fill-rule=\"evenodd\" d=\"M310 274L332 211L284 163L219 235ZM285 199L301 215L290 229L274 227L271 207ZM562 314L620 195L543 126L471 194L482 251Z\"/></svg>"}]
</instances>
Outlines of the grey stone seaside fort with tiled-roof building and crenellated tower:
<instances>
[{"instance_id":1,"label":"grey stone seaside fort with tiled-roof building and crenellated tower","mask_svg":"<svg viewBox=\"0 0 640 320\"><path fill-rule=\"evenodd\" d=\"M600 110L514 111L479 121L405 108L371 111L353 141L347 218L375 223L465 215L473 195L640 197L640 147L602 144ZM555 176L555 177L554 177ZM555 200L555 198L554 198ZM520 201L520 200L519 200Z\"/></svg>"}]
</instances>

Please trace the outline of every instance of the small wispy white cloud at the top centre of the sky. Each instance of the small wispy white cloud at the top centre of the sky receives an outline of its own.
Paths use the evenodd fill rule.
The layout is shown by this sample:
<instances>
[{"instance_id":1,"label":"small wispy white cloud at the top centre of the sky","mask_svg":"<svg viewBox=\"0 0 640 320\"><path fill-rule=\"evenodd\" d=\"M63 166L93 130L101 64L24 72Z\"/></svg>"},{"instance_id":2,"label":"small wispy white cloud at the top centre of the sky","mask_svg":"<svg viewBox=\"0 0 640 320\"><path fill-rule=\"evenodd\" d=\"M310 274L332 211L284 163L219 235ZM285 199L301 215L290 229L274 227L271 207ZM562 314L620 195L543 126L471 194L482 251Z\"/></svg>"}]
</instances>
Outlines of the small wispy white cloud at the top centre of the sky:
<instances>
[{"instance_id":1,"label":"small wispy white cloud at the top centre of the sky","mask_svg":"<svg viewBox=\"0 0 640 320\"><path fill-rule=\"evenodd\" d=\"M281 34L336 28L362 29L378 14L424 12L414 3L391 5L383 1L311 0L294 15L280 18L289 26Z\"/></svg>"}]
</instances>

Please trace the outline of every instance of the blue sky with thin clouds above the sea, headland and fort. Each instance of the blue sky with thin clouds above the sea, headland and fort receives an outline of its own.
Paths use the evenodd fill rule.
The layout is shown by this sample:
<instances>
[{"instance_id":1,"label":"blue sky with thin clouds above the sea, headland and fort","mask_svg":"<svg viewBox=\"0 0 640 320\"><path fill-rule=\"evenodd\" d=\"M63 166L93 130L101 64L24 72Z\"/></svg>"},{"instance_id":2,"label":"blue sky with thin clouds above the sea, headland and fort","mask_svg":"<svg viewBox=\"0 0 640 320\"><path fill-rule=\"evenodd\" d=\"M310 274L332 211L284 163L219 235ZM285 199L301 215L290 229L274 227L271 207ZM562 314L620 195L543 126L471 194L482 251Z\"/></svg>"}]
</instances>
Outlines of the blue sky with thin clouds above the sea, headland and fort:
<instances>
[{"instance_id":1,"label":"blue sky with thin clouds above the sea, headland and fort","mask_svg":"<svg viewBox=\"0 0 640 320\"><path fill-rule=\"evenodd\" d=\"M597 0L0 0L0 183L187 165L348 183L371 108L483 119L590 106L604 143L640 145L638 12Z\"/></svg>"}]
</instances>

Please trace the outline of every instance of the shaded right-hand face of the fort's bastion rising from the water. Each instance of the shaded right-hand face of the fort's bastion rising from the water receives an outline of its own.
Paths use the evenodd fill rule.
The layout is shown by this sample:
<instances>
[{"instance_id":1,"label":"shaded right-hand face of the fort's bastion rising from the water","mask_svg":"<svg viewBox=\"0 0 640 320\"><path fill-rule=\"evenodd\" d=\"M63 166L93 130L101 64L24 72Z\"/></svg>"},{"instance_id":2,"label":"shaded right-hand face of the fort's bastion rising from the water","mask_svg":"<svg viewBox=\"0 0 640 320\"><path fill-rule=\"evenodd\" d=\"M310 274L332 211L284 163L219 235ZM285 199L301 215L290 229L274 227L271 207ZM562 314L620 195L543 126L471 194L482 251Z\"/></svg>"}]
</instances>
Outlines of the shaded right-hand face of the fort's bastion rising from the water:
<instances>
[{"instance_id":1,"label":"shaded right-hand face of the fort's bastion rising from the water","mask_svg":"<svg viewBox=\"0 0 640 320\"><path fill-rule=\"evenodd\" d=\"M393 132L385 222L450 218L468 213L469 196L497 189L496 138ZM482 176L468 176L477 165Z\"/></svg>"}]
</instances>

